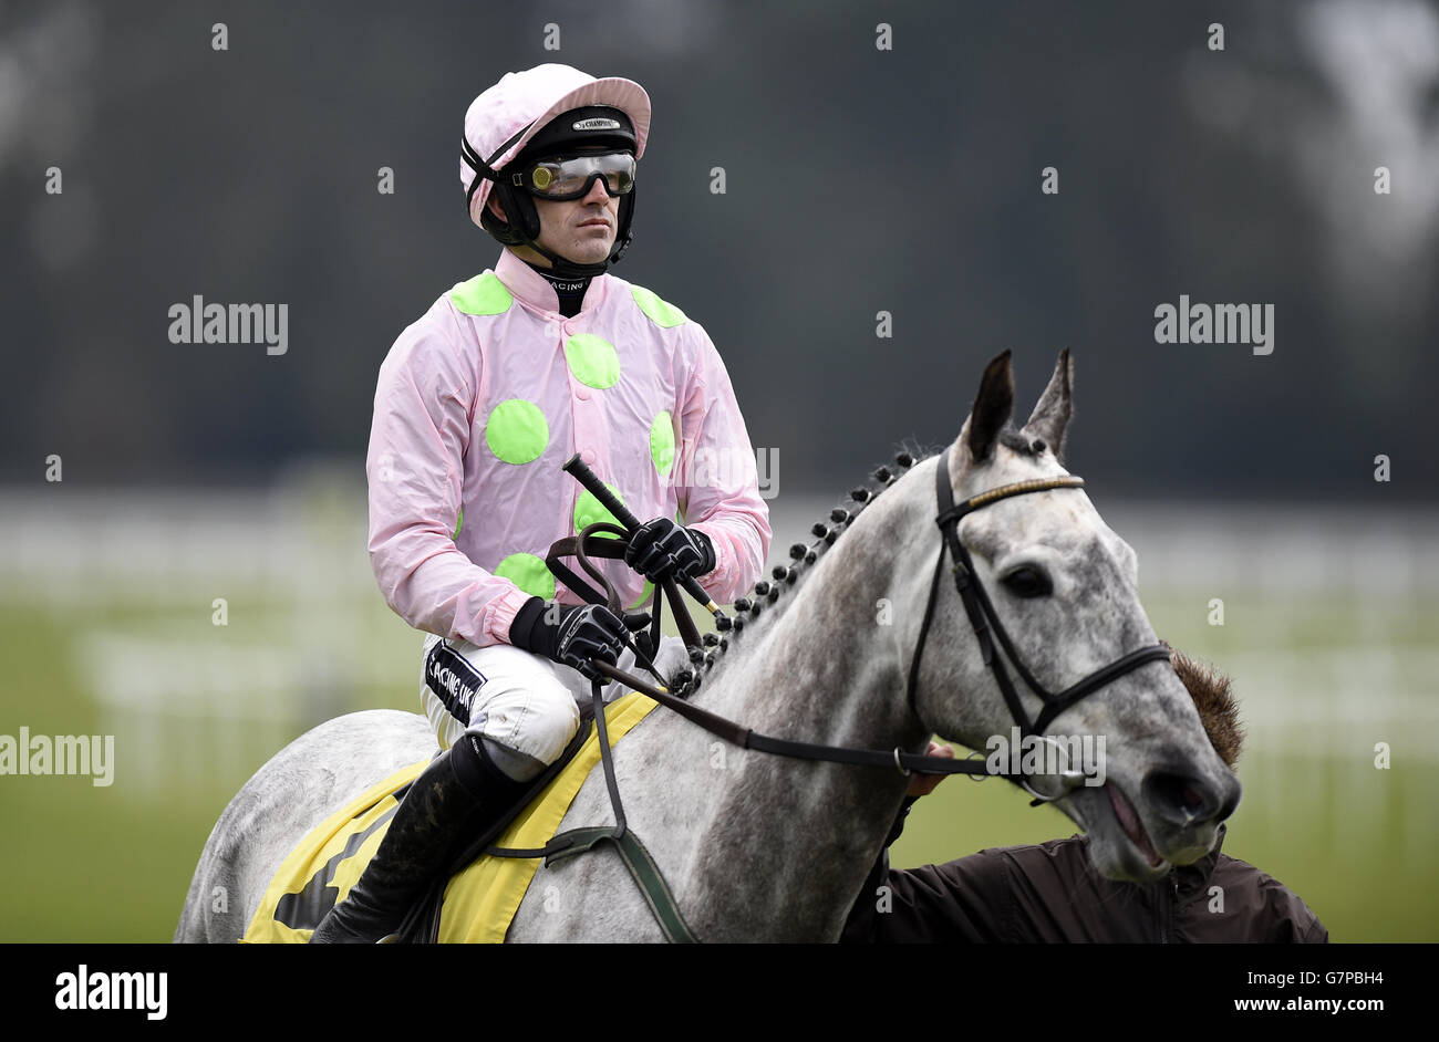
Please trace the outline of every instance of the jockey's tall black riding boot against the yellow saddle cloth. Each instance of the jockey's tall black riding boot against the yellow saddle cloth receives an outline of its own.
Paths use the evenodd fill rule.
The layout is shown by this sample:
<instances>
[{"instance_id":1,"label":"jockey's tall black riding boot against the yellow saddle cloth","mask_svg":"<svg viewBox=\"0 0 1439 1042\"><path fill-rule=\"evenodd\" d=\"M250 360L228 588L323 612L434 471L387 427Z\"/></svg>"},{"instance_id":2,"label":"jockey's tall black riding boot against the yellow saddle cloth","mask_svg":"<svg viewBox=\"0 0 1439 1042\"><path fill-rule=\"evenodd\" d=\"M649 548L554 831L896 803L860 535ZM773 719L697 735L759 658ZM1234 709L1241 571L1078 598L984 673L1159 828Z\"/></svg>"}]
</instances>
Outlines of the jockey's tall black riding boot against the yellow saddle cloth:
<instances>
[{"instance_id":1,"label":"jockey's tall black riding boot against the yellow saddle cloth","mask_svg":"<svg viewBox=\"0 0 1439 1042\"><path fill-rule=\"evenodd\" d=\"M482 739L465 734L410 785L380 849L309 943L374 944L394 933L459 841L498 819L525 788L491 762Z\"/></svg>"}]
</instances>

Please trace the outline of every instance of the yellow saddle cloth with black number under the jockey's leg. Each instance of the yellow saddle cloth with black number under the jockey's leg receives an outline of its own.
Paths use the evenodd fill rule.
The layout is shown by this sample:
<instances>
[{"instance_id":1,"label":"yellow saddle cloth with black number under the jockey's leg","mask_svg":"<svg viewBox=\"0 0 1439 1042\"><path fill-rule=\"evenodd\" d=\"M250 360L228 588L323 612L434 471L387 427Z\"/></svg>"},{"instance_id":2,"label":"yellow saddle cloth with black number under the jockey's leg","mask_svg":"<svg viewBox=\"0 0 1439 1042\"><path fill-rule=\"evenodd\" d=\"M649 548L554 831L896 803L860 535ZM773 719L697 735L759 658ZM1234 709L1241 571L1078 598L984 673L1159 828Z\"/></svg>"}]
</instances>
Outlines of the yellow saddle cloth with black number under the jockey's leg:
<instances>
[{"instance_id":1,"label":"yellow saddle cloth with black number under the jockey's leg","mask_svg":"<svg viewBox=\"0 0 1439 1042\"><path fill-rule=\"evenodd\" d=\"M604 707L610 744L649 716L658 703L630 693ZM544 847L560 828L576 793L600 762L599 730L555 775L540 796L519 812L495 841L496 847ZM429 760L412 763L367 789L315 826L281 864L260 900L245 944L304 944L324 914L342 901L380 847L399 806L394 793L413 782ZM593 822L600 825L603 822ZM498 943L540 868L538 858L482 857L450 878L440 908L440 941Z\"/></svg>"}]
</instances>

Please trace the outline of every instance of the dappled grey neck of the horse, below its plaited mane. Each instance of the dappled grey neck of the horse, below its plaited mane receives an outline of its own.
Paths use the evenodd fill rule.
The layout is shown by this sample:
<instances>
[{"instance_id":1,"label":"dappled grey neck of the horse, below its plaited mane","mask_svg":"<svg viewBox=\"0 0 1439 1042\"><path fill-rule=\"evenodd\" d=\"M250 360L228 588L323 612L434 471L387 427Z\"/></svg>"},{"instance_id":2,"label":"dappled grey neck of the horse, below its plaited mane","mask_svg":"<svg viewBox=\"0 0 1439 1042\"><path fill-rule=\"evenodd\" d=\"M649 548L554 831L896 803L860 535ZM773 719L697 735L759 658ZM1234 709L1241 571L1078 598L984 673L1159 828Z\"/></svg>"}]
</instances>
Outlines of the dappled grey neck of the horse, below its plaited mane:
<instances>
[{"instance_id":1,"label":"dappled grey neck of the horse, below its plaited mane","mask_svg":"<svg viewBox=\"0 0 1439 1042\"><path fill-rule=\"evenodd\" d=\"M904 542L861 515L784 596L793 604L743 637L696 701L758 733L850 747L917 749L894 628ZM748 647L747 647L748 645ZM681 724L689 726L689 724ZM698 812L689 907L714 923L766 924L767 940L832 939L878 857L904 795L896 770L724 750ZM712 765L709 765L712 766ZM751 939L758 940L758 937Z\"/></svg>"}]
</instances>

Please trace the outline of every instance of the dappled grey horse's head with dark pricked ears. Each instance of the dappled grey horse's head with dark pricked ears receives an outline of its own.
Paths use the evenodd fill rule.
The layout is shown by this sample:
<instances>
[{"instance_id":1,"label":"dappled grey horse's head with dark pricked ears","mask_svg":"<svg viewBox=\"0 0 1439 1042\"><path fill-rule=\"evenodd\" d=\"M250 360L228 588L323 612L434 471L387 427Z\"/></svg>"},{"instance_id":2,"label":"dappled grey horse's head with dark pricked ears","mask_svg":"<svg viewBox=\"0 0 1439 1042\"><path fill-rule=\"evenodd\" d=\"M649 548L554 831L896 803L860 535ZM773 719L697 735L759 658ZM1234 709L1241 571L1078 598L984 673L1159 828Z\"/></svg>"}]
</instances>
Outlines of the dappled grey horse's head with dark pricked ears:
<instances>
[{"instance_id":1,"label":"dappled grey horse's head with dark pricked ears","mask_svg":"<svg viewBox=\"0 0 1439 1042\"><path fill-rule=\"evenodd\" d=\"M1239 802L1239 782L1206 737L1173 667L1154 650L1137 594L1134 550L1104 523L1085 492L1022 486L973 502L994 489L1068 476L1069 352L1061 354L1049 387L1019 430L1010 423L1013 397L1004 352L984 371L958 440L937 461L948 469L950 494L961 504L958 540L979 589L964 595L967 608L947 561L915 710L935 733L1007 756L1012 727L1023 723L1006 698L1007 677L1020 716L1050 743L1046 749L1026 739L1020 756L1053 760L1052 747L1059 746L1068 756L1091 759L1084 765L1086 783L1075 785L1071 775L1069 788L1061 783L1052 795L1063 793L1056 806L1089 834L1095 865L1109 878L1156 880L1171 864L1189 864L1213 847L1219 824ZM932 519L940 499L935 470L917 467L909 481L920 489L909 486L904 499L924 497ZM928 530L935 532L932 522ZM912 591L911 605L922 611L927 596L928 582L922 592ZM986 664L986 644L999 668ZM1135 651L1135 658L1125 658ZM1121 668L1107 670L1114 664ZM1086 678L1094 681L1085 684L1088 693L1058 704L1029 683L1059 694Z\"/></svg>"}]
</instances>

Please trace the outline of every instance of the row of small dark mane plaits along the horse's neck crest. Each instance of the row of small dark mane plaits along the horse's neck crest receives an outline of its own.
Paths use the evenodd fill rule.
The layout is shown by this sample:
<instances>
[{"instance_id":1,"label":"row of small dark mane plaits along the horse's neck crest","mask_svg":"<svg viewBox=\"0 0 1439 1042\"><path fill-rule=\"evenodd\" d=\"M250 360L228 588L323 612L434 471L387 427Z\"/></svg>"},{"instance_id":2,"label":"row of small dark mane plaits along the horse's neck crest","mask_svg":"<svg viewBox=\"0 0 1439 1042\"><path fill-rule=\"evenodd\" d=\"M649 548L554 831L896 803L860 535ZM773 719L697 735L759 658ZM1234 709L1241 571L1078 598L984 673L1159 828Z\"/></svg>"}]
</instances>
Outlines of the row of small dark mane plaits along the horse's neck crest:
<instances>
[{"instance_id":1,"label":"row of small dark mane plaits along the horse's neck crest","mask_svg":"<svg viewBox=\"0 0 1439 1042\"><path fill-rule=\"evenodd\" d=\"M924 456L920 458L924 458ZM914 453L904 450L895 453L894 464L898 467L898 473L889 470L888 466L876 467L869 474L869 479L878 483L876 487L861 484L852 489L843 504L832 507L829 515L814 522L809 530L812 542L791 545L790 563L776 565L770 569L768 579L761 579L754 584L751 596L737 598L734 602L734 617L717 619L715 627L720 632L711 631L704 635L704 650L691 648L689 661L695 670L682 670L673 678L675 693L688 697L691 693L698 691L701 678L708 676L709 671L720 664L724 654L730 650L730 645L737 641L747 628L753 631L761 612L766 618L768 618L770 615L774 615L776 611L783 609L783 607L780 607L767 611L766 605L774 605L786 589L797 585L806 575L809 575L813 571L812 565L819 561L825 549L832 546L835 540L839 539L839 536L849 527L849 523L853 522L855 517L865 510L865 507L873 503L875 497L878 497L885 489L898 481L902 471L912 467L917 457Z\"/></svg>"}]
</instances>

